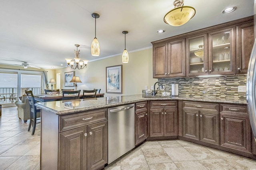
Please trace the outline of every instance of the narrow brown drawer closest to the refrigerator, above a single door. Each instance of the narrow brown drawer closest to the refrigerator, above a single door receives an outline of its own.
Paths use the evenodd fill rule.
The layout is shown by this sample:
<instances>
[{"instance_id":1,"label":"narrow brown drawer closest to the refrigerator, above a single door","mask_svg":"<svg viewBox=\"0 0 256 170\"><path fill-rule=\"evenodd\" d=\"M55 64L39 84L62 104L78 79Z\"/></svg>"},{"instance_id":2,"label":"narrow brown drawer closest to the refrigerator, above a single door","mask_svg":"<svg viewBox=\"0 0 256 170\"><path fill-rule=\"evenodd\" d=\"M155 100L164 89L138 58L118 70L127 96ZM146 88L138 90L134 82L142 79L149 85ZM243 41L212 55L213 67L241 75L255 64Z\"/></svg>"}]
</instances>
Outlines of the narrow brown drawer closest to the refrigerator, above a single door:
<instances>
[{"instance_id":1,"label":"narrow brown drawer closest to the refrigerator, above a single door","mask_svg":"<svg viewBox=\"0 0 256 170\"><path fill-rule=\"evenodd\" d=\"M246 105L220 104L220 112L248 114Z\"/></svg>"}]
</instances>

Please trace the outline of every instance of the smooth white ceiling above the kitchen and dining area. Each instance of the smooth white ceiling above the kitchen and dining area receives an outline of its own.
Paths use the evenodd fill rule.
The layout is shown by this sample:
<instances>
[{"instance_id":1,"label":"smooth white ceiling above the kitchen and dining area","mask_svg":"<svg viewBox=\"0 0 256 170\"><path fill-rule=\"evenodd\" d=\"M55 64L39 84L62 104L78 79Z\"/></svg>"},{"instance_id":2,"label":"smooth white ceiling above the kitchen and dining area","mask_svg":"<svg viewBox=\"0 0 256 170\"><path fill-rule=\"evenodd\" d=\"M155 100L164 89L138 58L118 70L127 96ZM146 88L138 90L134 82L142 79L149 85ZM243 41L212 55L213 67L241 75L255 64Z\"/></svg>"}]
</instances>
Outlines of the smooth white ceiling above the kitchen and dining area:
<instances>
[{"instance_id":1,"label":"smooth white ceiling above the kitchen and dining area","mask_svg":"<svg viewBox=\"0 0 256 170\"><path fill-rule=\"evenodd\" d=\"M152 47L150 42L211 25L252 16L254 0L184 0L184 6L196 9L188 23L173 27L164 23L164 15L174 8L174 0L1 0L0 64L22 61L41 68L60 68L65 58L74 57L74 44L80 46L80 58L102 59ZM226 7L236 6L230 14ZM93 57L90 45L96 37L100 56ZM165 33L156 31L164 29ZM121 59L120 59L121 60ZM89 63L90 64L90 63Z\"/></svg>"}]
</instances>

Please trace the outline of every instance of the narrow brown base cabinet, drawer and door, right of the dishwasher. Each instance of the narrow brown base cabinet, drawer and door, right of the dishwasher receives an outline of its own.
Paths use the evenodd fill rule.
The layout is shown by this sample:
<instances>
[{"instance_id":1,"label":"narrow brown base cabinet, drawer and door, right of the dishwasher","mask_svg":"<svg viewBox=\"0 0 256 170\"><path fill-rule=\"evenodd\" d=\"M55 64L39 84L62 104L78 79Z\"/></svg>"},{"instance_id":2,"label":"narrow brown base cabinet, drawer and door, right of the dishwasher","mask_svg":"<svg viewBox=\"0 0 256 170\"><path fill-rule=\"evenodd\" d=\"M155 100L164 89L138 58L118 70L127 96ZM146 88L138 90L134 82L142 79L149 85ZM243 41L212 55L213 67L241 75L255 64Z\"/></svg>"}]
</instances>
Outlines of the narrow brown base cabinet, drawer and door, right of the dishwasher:
<instances>
[{"instance_id":1,"label":"narrow brown base cabinet, drawer and door, right of the dishwasher","mask_svg":"<svg viewBox=\"0 0 256 170\"><path fill-rule=\"evenodd\" d=\"M139 145L147 138L148 102L135 104L135 145Z\"/></svg>"}]
</instances>

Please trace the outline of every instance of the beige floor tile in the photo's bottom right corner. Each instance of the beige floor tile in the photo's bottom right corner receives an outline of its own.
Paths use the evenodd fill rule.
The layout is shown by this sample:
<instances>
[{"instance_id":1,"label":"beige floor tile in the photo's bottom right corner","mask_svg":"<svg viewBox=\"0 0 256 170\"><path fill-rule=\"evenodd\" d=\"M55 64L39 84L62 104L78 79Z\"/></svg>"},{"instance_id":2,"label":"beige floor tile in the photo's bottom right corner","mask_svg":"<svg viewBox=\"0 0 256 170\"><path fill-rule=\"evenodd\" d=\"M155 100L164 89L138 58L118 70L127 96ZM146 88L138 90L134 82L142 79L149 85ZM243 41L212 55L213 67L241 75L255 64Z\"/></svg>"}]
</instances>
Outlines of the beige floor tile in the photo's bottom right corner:
<instances>
[{"instance_id":1,"label":"beige floor tile in the photo's bottom right corner","mask_svg":"<svg viewBox=\"0 0 256 170\"><path fill-rule=\"evenodd\" d=\"M238 170L248 169L248 170L256 170L256 161L246 159L246 158L228 158L225 159L230 165L236 167Z\"/></svg>"}]
</instances>

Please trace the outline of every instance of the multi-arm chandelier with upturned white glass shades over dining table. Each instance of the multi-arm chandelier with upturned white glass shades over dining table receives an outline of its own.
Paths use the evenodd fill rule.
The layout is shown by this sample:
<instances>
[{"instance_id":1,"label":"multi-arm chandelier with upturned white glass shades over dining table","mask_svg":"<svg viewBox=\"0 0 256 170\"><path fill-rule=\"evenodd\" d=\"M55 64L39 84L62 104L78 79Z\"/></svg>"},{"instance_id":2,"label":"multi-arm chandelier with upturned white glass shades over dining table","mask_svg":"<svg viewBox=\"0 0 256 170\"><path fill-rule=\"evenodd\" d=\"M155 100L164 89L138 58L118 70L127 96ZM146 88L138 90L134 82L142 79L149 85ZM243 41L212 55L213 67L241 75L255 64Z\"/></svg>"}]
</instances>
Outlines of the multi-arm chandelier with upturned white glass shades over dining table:
<instances>
[{"instance_id":1,"label":"multi-arm chandelier with upturned white glass shades over dining table","mask_svg":"<svg viewBox=\"0 0 256 170\"><path fill-rule=\"evenodd\" d=\"M88 60L83 60L83 61L80 61L80 58L79 58L79 55L80 55L80 50L78 50L78 47L80 45L78 44L75 44L76 46L76 50L74 50L74 53L75 53L75 61L73 61L72 59L65 59L68 66L73 68L73 69L76 69L78 68L78 70L80 69L83 69L84 67L87 67L87 64L88 64Z\"/></svg>"}]
</instances>

